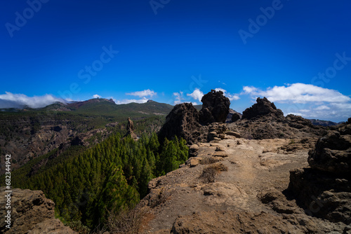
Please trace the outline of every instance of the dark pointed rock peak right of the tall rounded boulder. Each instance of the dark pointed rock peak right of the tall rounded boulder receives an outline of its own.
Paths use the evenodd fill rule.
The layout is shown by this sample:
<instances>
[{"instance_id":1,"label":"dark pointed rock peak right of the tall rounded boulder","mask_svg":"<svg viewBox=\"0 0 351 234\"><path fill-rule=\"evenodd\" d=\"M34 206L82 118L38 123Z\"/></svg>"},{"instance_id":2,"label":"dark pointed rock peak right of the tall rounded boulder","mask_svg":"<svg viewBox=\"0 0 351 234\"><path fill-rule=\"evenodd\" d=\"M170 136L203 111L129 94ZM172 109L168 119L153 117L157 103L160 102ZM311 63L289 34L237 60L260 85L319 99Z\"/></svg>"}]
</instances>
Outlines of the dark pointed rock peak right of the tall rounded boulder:
<instances>
[{"instance_id":1,"label":"dark pointed rock peak right of the tall rounded boulder","mask_svg":"<svg viewBox=\"0 0 351 234\"><path fill-rule=\"evenodd\" d=\"M266 97L256 99L256 104L249 107L242 113L242 119L253 119L260 116L272 116L273 118L284 118L284 113L281 109L277 109L273 102L270 102Z\"/></svg>"}]
</instances>

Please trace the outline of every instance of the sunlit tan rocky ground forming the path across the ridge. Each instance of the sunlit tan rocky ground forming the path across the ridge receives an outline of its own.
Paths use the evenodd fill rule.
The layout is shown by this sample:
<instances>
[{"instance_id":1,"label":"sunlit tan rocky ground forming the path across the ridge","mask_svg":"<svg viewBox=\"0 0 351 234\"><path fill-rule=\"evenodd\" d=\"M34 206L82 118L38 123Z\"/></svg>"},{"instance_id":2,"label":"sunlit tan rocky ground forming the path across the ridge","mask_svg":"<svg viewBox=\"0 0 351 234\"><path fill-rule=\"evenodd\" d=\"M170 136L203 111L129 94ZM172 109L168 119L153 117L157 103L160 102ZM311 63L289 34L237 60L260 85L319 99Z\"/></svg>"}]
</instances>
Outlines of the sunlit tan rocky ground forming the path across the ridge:
<instances>
[{"instance_id":1,"label":"sunlit tan rocky ground forming the path across the ridge","mask_svg":"<svg viewBox=\"0 0 351 234\"><path fill-rule=\"evenodd\" d=\"M138 207L151 219L143 233L351 233L289 196L289 171L308 166L316 141L249 140L227 131L192 145L186 165L150 181Z\"/></svg>"}]
</instances>

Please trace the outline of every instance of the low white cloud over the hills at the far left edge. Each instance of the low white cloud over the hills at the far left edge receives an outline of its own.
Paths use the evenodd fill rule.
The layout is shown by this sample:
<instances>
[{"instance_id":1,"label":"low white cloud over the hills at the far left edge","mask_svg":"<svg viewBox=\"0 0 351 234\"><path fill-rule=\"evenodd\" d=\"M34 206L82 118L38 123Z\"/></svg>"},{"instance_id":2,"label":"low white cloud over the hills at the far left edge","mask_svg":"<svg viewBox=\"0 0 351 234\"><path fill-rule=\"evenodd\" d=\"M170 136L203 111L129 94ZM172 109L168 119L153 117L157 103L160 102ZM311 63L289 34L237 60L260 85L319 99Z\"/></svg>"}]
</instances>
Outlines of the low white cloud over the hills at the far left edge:
<instances>
[{"instance_id":1,"label":"low white cloud over the hills at the far left edge","mask_svg":"<svg viewBox=\"0 0 351 234\"><path fill-rule=\"evenodd\" d=\"M23 106L40 108L54 102L65 103L67 101L53 95L28 97L24 94L14 94L12 92L5 92L4 95L0 95L0 108L22 108Z\"/></svg>"}]
</instances>

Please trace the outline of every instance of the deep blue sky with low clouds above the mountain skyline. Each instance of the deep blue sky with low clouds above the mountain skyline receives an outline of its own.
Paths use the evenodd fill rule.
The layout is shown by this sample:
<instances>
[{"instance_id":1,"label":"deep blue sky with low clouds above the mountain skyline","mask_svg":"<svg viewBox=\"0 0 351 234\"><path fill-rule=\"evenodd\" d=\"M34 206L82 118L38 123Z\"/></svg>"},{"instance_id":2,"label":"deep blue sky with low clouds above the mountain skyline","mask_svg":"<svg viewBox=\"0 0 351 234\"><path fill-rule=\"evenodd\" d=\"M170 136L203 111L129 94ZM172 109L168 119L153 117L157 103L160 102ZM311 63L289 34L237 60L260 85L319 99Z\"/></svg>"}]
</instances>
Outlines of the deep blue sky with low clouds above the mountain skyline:
<instances>
[{"instance_id":1,"label":"deep blue sky with low clouds above the mountain skyline","mask_svg":"<svg viewBox=\"0 0 351 234\"><path fill-rule=\"evenodd\" d=\"M5 1L0 108L58 99L196 102L351 117L350 1ZM96 96L98 95L98 96Z\"/></svg>"}]
</instances>

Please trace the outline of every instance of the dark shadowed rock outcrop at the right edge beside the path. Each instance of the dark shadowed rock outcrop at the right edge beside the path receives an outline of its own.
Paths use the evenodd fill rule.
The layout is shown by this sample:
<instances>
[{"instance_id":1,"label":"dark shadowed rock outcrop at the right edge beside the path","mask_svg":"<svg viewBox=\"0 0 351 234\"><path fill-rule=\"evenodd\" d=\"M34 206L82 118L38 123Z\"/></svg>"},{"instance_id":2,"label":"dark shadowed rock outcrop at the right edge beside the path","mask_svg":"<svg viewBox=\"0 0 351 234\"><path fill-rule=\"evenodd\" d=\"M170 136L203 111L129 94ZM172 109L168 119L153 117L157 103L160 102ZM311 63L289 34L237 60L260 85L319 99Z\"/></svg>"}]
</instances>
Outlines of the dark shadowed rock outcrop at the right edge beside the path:
<instances>
[{"instance_id":1,"label":"dark shadowed rock outcrop at the right edge beside the path","mask_svg":"<svg viewBox=\"0 0 351 234\"><path fill-rule=\"evenodd\" d=\"M311 168L290 172L289 191L307 214L351 223L351 124L321 137L309 152Z\"/></svg>"}]
</instances>

